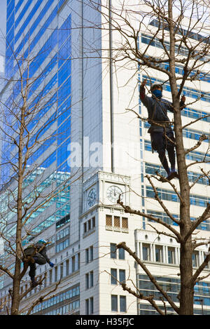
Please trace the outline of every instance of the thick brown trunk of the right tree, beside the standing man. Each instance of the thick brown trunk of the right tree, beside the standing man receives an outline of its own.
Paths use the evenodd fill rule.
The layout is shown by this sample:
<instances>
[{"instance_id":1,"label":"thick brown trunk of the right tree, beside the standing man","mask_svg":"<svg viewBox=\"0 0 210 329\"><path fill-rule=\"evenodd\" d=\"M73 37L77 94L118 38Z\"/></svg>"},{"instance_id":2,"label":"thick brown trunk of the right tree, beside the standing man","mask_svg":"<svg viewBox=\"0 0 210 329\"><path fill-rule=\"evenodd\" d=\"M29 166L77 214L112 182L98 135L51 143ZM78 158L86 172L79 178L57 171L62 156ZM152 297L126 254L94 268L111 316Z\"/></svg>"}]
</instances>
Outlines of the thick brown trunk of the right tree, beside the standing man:
<instances>
[{"instance_id":1,"label":"thick brown trunk of the right tree, beside the standing man","mask_svg":"<svg viewBox=\"0 0 210 329\"><path fill-rule=\"evenodd\" d=\"M180 184L180 233L181 233L181 250L180 250L180 315L193 315L193 294L194 287L192 285L193 264L192 264L192 240L191 236L187 241L185 236L191 227L190 221L190 186L188 182L188 173L186 166L185 148L183 145L183 133L181 123L181 111L179 110L180 91L176 84L175 72L175 34L173 19L173 1L169 0L169 34L170 34L170 85L172 88L172 100L174 104L174 132L176 136L176 157L179 170ZM186 270L188 269L188 270Z\"/></svg>"}]
</instances>

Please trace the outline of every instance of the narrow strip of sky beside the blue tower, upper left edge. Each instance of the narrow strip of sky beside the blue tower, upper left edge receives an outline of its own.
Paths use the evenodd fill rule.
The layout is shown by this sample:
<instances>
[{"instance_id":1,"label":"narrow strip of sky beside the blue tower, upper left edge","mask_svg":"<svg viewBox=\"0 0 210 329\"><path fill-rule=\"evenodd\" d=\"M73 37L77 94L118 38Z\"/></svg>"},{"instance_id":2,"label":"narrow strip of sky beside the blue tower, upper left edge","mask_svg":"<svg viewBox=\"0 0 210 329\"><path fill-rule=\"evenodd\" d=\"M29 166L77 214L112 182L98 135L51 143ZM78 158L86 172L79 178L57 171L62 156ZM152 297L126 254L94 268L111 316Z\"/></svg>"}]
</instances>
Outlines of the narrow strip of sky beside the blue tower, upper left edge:
<instances>
[{"instance_id":1,"label":"narrow strip of sky beside the blue tower, upper left edge","mask_svg":"<svg viewBox=\"0 0 210 329\"><path fill-rule=\"evenodd\" d=\"M0 73L4 71L6 36L6 0L0 0Z\"/></svg>"}]
</instances>

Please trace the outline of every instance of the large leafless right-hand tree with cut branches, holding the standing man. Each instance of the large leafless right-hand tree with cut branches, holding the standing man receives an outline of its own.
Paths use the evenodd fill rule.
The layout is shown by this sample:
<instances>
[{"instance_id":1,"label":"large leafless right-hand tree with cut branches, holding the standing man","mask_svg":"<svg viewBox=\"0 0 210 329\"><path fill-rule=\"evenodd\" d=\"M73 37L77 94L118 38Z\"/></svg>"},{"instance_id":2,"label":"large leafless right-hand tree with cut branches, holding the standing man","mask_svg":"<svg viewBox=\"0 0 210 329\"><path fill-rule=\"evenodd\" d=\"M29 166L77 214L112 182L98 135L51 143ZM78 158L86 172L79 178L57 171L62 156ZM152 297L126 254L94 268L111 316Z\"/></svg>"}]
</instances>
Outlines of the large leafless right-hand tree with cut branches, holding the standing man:
<instances>
[{"instance_id":1,"label":"large leafless right-hand tree with cut branches, holding the standing man","mask_svg":"<svg viewBox=\"0 0 210 329\"><path fill-rule=\"evenodd\" d=\"M160 218L155 217L155 215L148 215L141 210L125 206L120 199L118 199L118 204L123 207L126 213L146 217L148 220L161 224L162 231L158 231L155 224L153 224L153 230L157 234L165 234L176 239L180 244L181 291L178 296L180 306L177 307L167 292L158 285L153 274L148 271L144 262L135 255L134 251L130 250L125 243L120 243L118 248L124 248L134 257L134 260L144 269L155 287L177 314L190 315L193 314L194 286L197 281L202 280L203 277L200 275L210 260L210 255L207 255L200 267L193 271L192 256L194 250L198 246L207 244L207 240L203 241L201 239L197 241L193 233L209 217L210 204L207 204L207 208L202 215L197 217L197 220L191 221L190 192L201 177L207 177L207 180L209 180L209 170L202 168L200 175L193 182L190 182L188 168L197 163L209 162L209 144L206 143L207 148L201 161L187 163L186 156L203 145L205 140L209 139L209 131L201 133L197 144L188 149L184 145L183 131L186 127L200 120L207 119L210 114L208 112L207 114L200 112L197 119L183 123L179 103L183 93L194 98L192 102L188 100L186 107L199 100L207 100L207 98L209 100L207 91L193 94L195 91L193 90L194 86L199 89L200 82L209 81L209 4L206 1L197 0L119 0L101 1L99 4L99 1L90 0L89 6L92 6L95 11L102 15L102 24L95 26L95 28L111 32L112 43L109 44L111 48L103 48L103 51L104 53L109 53L107 58L109 58L113 69L115 69L116 76L119 69L130 69L130 79L137 79L137 74L141 74L142 76L146 75L148 81L154 82L151 79L152 74L156 72L157 75L157 72L160 72L164 79L159 82L162 83L162 86L167 86L168 84L172 93L172 105L174 107L172 123L174 124L176 139L179 189L172 182L162 177L160 173L147 175L146 178L153 188L154 199L160 204L164 213L172 220L172 223L178 225L179 228L176 229L172 224L167 224ZM144 38L145 41L141 42L141 38ZM149 89L148 92L150 92ZM135 112L134 109L130 110ZM145 117L140 116L137 112L135 113L139 119L146 121ZM158 189L155 187L155 180L160 180L160 178L172 187L179 200L179 219L174 217L167 206L165 206ZM133 293L136 297L146 298L140 293L131 291L125 284L123 288L129 293ZM158 309L153 297L148 298L148 300L155 309ZM158 311L162 314L160 309Z\"/></svg>"}]
</instances>

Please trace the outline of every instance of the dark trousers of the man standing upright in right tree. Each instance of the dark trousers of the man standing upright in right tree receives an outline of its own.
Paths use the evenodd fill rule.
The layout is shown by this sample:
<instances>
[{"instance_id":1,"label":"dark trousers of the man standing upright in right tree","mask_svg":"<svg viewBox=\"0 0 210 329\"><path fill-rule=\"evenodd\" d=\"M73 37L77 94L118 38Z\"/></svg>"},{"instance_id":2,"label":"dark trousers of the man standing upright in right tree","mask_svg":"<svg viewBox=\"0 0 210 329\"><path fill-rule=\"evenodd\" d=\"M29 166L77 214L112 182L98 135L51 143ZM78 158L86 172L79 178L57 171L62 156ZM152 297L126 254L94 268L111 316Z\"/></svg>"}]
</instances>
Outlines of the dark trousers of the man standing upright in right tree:
<instances>
[{"instance_id":1,"label":"dark trousers of the man standing upright in right tree","mask_svg":"<svg viewBox=\"0 0 210 329\"><path fill-rule=\"evenodd\" d=\"M167 135L167 137L169 137L172 142L165 135ZM153 149L158 152L160 162L162 163L163 168L165 168L165 170L167 171L167 174L169 175L170 169L165 151L167 149L171 167L172 169L175 169L175 139L173 131L169 130L167 131L167 133L156 133L151 131L151 144Z\"/></svg>"}]
</instances>

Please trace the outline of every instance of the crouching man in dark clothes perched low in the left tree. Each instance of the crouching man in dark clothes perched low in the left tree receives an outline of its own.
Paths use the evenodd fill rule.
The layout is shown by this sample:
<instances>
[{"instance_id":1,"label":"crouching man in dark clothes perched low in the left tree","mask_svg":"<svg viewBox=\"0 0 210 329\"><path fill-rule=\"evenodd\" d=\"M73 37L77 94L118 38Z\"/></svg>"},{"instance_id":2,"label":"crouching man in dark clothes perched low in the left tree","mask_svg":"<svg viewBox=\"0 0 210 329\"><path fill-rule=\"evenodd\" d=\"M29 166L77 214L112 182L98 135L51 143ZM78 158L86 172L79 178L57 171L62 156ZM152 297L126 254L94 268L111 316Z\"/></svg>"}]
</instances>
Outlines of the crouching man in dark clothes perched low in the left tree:
<instances>
[{"instance_id":1,"label":"crouching man in dark clothes perched low in the left tree","mask_svg":"<svg viewBox=\"0 0 210 329\"><path fill-rule=\"evenodd\" d=\"M31 278L32 287L35 287L38 284L35 280L36 264L44 265L44 264L46 264L46 262L48 262L50 267L54 267L54 264L52 262L50 262L50 260L47 256L46 247L45 247L46 244L47 244L47 242L45 240L39 240L37 243L35 243L34 245L28 246L24 250L26 257L23 259L23 262L25 262L25 264L26 264L27 260L28 260L28 264L30 267L29 276Z\"/></svg>"}]
</instances>

